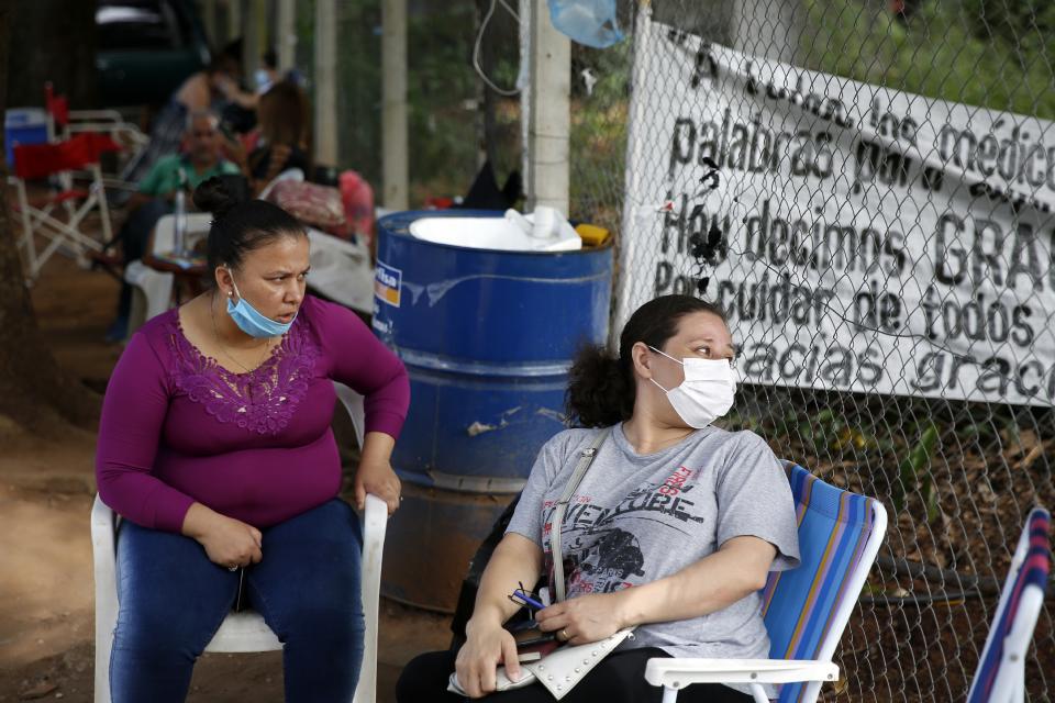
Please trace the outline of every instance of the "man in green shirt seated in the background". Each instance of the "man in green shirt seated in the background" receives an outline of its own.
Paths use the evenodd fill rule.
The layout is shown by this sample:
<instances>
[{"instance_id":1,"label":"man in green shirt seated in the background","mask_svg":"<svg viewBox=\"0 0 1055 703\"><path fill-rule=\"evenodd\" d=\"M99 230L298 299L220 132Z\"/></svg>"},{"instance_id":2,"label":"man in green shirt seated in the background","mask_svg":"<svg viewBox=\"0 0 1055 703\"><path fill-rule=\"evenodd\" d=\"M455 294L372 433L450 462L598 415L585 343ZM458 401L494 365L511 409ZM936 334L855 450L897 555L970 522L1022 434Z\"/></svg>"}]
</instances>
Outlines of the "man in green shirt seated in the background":
<instances>
[{"instance_id":1,"label":"man in green shirt seated in the background","mask_svg":"<svg viewBox=\"0 0 1055 703\"><path fill-rule=\"evenodd\" d=\"M140 181L129 200L129 216L119 235L125 265L143 258L157 221L173 212L180 183L185 190L193 190L213 176L238 172L237 166L220 157L218 126L216 115L208 109L191 112L184 133L186 152L162 157ZM124 339L131 308L132 287L122 281L118 317L107 332L108 341Z\"/></svg>"}]
</instances>

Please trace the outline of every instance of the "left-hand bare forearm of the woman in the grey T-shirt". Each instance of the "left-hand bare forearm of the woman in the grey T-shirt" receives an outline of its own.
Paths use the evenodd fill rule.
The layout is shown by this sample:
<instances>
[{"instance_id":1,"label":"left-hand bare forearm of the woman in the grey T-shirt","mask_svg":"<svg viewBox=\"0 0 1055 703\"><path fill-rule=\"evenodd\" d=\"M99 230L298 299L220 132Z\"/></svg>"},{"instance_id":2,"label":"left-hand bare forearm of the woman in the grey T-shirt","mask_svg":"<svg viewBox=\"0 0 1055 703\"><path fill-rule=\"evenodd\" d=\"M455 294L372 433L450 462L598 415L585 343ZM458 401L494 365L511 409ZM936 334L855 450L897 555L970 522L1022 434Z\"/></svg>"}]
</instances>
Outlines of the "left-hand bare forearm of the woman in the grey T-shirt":
<instances>
[{"instance_id":1,"label":"left-hand bare forearm of the woman in the grey T-shirt","mask_svg":"<svg viewBox=\"0 0 1055 703\"><path fill-rule=\"evenodd\" d=\"M542 573L542 549L522 535L506 535L491 554L480 578L473 617L466 628L476 625L501 626L520 606L509 600L523 583L533 588Z\"/></svg>"}]
</instances>

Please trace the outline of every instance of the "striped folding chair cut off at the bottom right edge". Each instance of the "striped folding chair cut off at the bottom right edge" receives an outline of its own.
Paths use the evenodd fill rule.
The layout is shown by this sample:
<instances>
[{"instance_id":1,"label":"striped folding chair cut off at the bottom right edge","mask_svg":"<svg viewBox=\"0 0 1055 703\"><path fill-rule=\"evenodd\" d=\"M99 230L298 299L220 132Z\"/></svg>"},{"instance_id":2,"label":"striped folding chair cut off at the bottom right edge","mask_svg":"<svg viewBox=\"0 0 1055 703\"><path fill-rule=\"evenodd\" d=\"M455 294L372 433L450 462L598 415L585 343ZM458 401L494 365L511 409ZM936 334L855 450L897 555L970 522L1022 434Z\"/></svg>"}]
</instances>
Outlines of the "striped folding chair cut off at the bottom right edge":
<instances>
[{"instance_id":1,"label":"striped folding chair cut off at the bottom right edge","mask_svg":"<svg viewBox=\"0 0 1055 703\"><path fill-rule=\"evenodd\" d=\"M1052 516L1043 507L1034 507L1025 518L967 703L1025 700L1025 655L1044 606L1052 569L1051 523Z\"/></svg>"}]
</instances>

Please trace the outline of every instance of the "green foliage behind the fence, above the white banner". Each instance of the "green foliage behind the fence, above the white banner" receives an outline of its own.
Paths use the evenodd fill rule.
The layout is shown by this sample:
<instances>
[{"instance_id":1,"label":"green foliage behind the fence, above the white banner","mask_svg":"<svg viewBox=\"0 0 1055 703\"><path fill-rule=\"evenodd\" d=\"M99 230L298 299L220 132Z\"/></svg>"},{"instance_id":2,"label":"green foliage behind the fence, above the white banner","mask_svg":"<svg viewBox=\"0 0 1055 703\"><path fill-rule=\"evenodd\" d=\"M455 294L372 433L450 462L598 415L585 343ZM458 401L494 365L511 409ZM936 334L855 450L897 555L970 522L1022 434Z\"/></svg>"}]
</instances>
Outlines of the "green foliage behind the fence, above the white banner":
<instances>
[{"instance_id":1,"label":"green foliage behind the fence, above the white banner","mask_svg":"<svg viewBox=\"0 0 1055 703\"><path fill-rule=\"evenodd\" d=\"M1055 3L930 0L906 24L860 0L807 0L809 68L1055 119Z\"/></svg>"}]
</instances>

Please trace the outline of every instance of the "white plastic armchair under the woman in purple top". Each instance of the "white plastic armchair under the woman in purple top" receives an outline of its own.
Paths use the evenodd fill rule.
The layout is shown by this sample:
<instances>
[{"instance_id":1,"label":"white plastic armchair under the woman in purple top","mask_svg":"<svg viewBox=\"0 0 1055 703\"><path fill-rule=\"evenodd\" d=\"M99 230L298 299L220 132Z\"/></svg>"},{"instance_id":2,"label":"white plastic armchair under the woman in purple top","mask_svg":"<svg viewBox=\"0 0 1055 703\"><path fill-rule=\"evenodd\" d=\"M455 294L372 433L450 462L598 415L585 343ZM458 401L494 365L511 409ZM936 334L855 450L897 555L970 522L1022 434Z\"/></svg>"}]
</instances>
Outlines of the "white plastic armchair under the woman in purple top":
<instances>
[{"instance_id":1,"label":"white plastic armchair under the woman in purple top","mask_svg":"<svg viewBox=\"0 0 1055 703\"><path fill-rule=\"evenodd\" d=\"M355 436L363 446L365 411L363 397L347 386L334 383L337 398L352 415ZM115 574L116 527L120 517L96 495L91 507L91 547L96 572L96 703L110 703L110 650L118 623ZM374 703L377 694L377 625L381 589L381 554L388 507L380 498L368 494L363 525L363 613L366 634L363 667L353 703ZM282 648L264 618L252 611L230 613L212 641L211 652L277 651Z\"/></svg>"}]
</instances>

